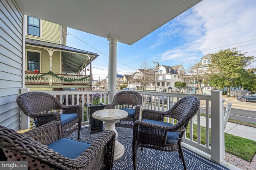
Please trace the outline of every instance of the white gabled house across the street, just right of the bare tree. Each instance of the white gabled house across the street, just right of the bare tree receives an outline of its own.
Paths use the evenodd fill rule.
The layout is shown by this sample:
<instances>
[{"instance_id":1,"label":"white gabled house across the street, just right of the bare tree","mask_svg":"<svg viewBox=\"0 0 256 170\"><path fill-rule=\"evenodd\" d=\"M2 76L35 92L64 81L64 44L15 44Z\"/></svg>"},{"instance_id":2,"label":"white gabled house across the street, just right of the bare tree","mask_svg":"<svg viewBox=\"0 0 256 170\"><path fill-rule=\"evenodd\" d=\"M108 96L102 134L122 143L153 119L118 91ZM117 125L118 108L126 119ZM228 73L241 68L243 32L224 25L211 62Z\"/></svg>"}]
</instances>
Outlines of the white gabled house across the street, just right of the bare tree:
<instances>
[{"instance_id":1,"label":"white gabled house across the street, just right of the bare tree","mask_svg":"<svg viewBox=\"0 0 256 170\"><path fill-rule=\"evenodd\" d=\"M157 63L155 67L156 89L162 91L163 89L172 87L172 91L178 91L178 89L174 87L174 82L180 81L180 74L184 72L185 69L182 65L167 66ZM150 87L147 89L153 90L154 82L150 83Z\"/></svg>"}]
</instances>

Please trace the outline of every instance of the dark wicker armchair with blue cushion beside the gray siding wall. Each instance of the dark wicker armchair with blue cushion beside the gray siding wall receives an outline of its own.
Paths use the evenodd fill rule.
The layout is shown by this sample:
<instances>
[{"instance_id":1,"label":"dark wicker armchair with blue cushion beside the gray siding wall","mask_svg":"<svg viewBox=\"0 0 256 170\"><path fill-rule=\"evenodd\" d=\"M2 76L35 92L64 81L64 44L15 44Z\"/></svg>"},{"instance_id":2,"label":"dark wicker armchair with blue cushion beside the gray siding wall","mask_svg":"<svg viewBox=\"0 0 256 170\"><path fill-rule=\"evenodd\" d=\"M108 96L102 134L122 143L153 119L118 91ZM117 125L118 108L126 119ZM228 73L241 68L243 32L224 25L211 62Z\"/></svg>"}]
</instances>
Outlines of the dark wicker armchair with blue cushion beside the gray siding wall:
<instances>
[{"instance_id":1,"label":"dark wicker armchair with blue cushion beside the gray siding wall","mask_svg":"<svg viewBox=\"0 0 256 170\"><path fill-rule=\"evenodd\" d=\"M16 101L25 115L35 120L37 127L50 121L61 121L64 137L78 130L78 140L80 139L81 105L64 106L53 95L36 91L19 95Z\"/></svg>"}]
</instances>

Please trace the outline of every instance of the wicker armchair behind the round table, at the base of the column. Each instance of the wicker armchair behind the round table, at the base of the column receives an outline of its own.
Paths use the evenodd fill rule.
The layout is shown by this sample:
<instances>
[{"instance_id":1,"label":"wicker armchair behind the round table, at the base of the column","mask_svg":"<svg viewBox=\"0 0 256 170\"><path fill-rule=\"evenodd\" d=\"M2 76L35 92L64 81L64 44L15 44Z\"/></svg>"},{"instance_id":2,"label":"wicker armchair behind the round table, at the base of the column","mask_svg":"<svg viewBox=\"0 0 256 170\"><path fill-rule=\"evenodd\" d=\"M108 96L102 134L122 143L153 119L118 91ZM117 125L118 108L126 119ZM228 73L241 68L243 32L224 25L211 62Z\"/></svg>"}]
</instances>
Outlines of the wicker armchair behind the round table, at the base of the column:
<instances>
[{"instance_id":1,"label":"wicker armchair behind the round table, at the base of the column","mask_svg":"<svg viewBox=\"0 0 256 170\"><path fill-rule=\"evenodd\" d=\"M116 121L116 127L133 128L133 123L139 120L140 107L142 104L142 97L136 91L121 91L116 93L113 102L106 105L106 109L115 109L115 106L121 105L122 110L128 112L128 117ZM135 107L135 109L134 109Z\"/></svg>"}]
</instances>

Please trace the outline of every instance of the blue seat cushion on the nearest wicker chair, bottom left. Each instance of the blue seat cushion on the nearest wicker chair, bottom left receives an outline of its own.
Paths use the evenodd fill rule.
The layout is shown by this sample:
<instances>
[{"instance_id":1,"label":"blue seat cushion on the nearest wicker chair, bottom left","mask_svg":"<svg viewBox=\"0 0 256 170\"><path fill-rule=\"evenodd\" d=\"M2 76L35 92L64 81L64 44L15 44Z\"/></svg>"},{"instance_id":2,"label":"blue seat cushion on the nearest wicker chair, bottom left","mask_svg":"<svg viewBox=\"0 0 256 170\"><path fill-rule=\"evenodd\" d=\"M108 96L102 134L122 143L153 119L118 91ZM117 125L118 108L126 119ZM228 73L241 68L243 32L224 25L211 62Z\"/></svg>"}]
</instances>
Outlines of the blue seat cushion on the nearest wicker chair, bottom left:
<instances>
[{"instance_id":1,"label":"blue seat cushion on the nearest wicker chair, bottom left","mask_svg":"<svg viewBox=\"0 0 256 170\"><path fill-rule=\"evenodd\" d=\"M90 145L91 144L89 143L62 138L49 144L48 148L60 153L67 158L74 159L80 156Z\"/></svg>"}]
</instances>

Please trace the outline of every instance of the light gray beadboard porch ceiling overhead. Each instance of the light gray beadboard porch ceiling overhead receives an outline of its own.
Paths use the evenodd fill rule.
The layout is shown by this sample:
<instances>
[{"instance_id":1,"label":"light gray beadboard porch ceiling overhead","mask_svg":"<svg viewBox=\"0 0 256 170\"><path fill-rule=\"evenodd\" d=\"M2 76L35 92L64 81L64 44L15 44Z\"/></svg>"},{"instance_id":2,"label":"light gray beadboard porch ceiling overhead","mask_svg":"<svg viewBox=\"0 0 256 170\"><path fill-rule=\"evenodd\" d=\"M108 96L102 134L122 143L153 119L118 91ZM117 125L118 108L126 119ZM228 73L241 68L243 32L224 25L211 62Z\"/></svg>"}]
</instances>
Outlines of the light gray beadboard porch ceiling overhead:
<instances>
[{"instance_id":1,"label":"light gray beadboard porch ceiling overhead","mask_svg":"<svg viewBox=\"0 0 256 170\"><path fill-rule=\"evenodd\" d=\"M16 1L26 15L131 45L202 0Z\"/></svg>"}]
</instances>

